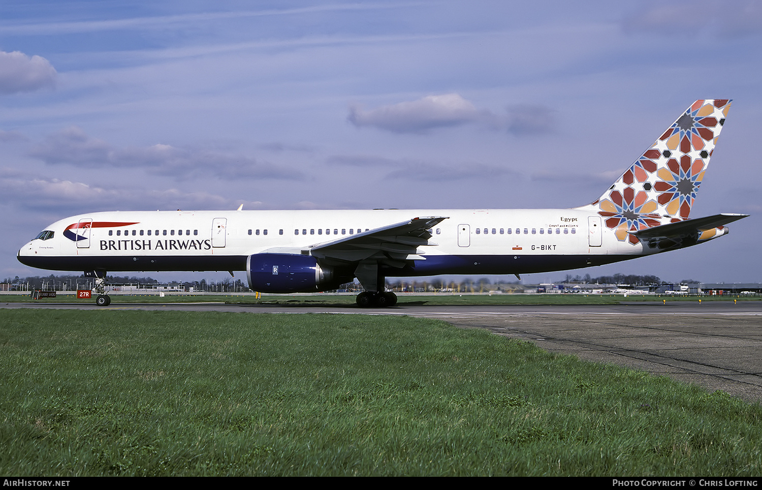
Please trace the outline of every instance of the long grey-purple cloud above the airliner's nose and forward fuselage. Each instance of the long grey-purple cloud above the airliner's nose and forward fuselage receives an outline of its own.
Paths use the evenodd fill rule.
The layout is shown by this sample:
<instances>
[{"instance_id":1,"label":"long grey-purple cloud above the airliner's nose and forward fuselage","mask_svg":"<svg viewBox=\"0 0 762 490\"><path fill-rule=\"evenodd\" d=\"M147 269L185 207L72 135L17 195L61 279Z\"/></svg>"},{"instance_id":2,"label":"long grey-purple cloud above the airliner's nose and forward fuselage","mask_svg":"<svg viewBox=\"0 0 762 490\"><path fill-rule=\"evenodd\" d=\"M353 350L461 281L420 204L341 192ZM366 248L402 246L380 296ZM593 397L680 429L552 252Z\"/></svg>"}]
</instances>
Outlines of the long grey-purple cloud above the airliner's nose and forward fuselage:
<instances>
[{"instance_id":1,"label":"long grey-purple cloud above the airliner's nose and forward fuselage","mask_svg":"<svg viewBox=\"0 0 762 490\"><path fill-rule=\"evenodd\" d=\"M171 145L117 148L88 136L79 127L67 127L46 137L29 155L47 164L68 164L85 168L146 168L154 175L177 180L195 177L275 178L300 180L303 174L278 165L264 165L244 155L226 155L207 150L176 148Z\"/></svg>"}]
</instances>

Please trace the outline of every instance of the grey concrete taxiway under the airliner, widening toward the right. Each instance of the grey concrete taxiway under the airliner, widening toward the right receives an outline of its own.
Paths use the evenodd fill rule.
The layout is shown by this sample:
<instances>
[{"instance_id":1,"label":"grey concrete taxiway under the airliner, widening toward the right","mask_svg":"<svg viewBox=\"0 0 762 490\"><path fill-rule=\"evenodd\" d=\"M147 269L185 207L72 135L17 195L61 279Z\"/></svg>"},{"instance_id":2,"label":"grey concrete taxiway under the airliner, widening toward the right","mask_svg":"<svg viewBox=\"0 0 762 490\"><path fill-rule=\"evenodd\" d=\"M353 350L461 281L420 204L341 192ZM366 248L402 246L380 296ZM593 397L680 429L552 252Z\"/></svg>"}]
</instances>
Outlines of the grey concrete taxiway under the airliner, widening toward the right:
<instances>
[{"instance_id":1,"label":"grey concrete taxiway under the airliner, widening toward the right","mask_svg":"<svg viewBox=\"0 0 762 490\"><path fill-rule=\"evenodd\" d=\"M762 302L626 303L590 306L427 306L400 301L387 309L224 303L123 304L111 310L251 313L363 313L440 319L487 328L547 351L722 389L762 402ZM0 308L104 309L94 304L0 303Z\"/></svg>"}]
</instances>

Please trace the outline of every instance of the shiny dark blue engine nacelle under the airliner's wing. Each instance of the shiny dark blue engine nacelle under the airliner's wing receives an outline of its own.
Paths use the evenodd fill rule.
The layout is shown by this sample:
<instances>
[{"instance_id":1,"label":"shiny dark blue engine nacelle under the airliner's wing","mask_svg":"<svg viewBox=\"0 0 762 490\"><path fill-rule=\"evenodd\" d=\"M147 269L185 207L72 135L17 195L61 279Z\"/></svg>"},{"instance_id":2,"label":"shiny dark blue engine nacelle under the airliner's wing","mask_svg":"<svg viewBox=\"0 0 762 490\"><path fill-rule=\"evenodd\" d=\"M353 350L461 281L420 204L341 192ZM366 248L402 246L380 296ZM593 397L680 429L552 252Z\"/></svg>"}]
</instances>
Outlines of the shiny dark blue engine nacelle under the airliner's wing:
<instances>
[{"instance_id":1,"label":"shiny dark blue engine nacelle under the airliner's wing","mask_svg":"<svg viewBox=\"0 0 762 490\"><path fill-rule=\"evenodd\" d=\"M312 255L255 254L246 259L250 290L260 293L315 293L334 289L330 267L320 267Z\"/></svg>"}]
</instances>

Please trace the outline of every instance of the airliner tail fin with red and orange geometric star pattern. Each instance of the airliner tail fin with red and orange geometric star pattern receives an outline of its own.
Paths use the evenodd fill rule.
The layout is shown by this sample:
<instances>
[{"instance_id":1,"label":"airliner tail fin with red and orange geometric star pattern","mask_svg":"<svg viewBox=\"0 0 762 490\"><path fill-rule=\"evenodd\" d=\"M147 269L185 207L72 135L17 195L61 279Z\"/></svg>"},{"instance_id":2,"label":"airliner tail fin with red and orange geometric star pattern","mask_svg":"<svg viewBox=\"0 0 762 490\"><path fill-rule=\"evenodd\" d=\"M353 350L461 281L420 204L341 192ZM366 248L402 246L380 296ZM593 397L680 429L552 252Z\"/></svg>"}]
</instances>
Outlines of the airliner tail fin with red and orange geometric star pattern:
<instances>
[{"instance_id":1,"label":"airliner tail fin with red and orange geometric star pattern","mask_svg":"<svg viewBox=\"0 0 762 490\"><path fill-rule=\"evenodd\" d=\"M694 102L598 200L598 211L620 242L628 231L687 219L709 166L731 101Z\"/></svg>"}]
</instances>

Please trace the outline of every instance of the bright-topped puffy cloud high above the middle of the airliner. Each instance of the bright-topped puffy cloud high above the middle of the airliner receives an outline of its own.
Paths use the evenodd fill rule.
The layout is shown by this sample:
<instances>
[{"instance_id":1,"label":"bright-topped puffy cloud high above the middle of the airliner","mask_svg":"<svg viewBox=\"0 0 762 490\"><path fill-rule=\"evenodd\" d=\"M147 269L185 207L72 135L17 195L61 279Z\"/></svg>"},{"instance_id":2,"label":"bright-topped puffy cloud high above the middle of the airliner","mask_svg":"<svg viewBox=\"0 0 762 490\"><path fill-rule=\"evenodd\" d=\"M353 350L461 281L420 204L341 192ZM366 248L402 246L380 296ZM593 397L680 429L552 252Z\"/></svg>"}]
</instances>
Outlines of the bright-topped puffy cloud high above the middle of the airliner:
<instances>
[{"instance_id":1,"label":"bright-topped puffy cloud high above the middle of the airliner","mask_svg":"<svg viewBox=\"0 0 762 490\"><path fill-rule=\"evenodd\" d=\"M357 127L373 126L394 133L426 133L437 127L489 121L495 116L479 110L459 94L428 95L373 110L352 106L347 119Z\"/></svg>"}]
</instances>

